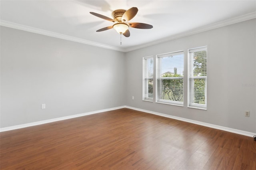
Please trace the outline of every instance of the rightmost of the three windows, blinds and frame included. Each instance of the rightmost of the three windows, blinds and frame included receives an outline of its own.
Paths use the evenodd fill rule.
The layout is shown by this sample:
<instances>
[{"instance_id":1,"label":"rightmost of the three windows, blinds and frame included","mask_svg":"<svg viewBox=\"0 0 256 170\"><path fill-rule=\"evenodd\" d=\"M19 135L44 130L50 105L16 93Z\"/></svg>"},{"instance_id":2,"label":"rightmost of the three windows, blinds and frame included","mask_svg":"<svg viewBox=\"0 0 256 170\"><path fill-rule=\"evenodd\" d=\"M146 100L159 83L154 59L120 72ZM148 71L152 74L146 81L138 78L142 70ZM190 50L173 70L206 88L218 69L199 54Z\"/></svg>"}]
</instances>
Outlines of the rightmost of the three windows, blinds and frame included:
<instances>
[{"instance_id":1,"label":"rightmost of the three windows, blinds and frame included","mask_svg":"<svg viewBox=\"0 0 256 170\"><path fill-rule=\"evenodd\" d=\"M207 108L207 47L188 50L188 107Z\"/></svg>"}]
</instances>

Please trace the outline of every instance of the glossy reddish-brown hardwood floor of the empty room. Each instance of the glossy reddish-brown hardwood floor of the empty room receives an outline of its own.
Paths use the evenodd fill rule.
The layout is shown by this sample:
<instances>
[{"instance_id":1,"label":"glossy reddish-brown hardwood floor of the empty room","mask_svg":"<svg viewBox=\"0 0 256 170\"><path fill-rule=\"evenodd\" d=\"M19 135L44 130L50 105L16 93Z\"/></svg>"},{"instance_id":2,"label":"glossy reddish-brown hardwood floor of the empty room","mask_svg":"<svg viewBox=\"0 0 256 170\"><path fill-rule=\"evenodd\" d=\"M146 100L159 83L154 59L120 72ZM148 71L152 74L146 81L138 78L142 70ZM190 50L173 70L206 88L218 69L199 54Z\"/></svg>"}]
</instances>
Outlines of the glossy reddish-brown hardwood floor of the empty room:
<instances>
[{"instance_id":1,"label":"glossy reddish-brown hardwood floor of the empty room","mask_svg":"<svg viewBox=\"0 0 256 170\"><path fill-rule=\"evenodd\" d=\"M0 169L256 170L252 137L131 109L0 133Z\"/></svg>"}]
</instances>

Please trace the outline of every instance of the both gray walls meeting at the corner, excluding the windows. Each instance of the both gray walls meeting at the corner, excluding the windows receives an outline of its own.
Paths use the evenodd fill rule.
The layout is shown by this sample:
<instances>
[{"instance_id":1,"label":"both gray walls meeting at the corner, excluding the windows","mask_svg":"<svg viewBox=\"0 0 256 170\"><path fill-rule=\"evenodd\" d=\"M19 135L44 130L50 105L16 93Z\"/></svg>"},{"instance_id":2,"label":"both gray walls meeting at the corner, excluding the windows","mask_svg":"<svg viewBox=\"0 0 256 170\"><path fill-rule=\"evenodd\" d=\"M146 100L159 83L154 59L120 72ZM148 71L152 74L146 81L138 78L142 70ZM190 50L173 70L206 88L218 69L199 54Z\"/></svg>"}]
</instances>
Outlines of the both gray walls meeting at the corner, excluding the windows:
<instances>
[{"instance_id":1,"label":"both gray walls meeting at the corner, excluding the windows","mask_svg":"<svg viewBox=\"0 0 256 170\"><path fill-rule=\"evenodd\" d=\"M187 69L184 107L142 101L142 57L184 50L186 68L204 45L207 111L187 107ZM1 27L0 55L1 128L127 105L256 132L255 19L128 53Z\"/></svg>"}]
</instances>

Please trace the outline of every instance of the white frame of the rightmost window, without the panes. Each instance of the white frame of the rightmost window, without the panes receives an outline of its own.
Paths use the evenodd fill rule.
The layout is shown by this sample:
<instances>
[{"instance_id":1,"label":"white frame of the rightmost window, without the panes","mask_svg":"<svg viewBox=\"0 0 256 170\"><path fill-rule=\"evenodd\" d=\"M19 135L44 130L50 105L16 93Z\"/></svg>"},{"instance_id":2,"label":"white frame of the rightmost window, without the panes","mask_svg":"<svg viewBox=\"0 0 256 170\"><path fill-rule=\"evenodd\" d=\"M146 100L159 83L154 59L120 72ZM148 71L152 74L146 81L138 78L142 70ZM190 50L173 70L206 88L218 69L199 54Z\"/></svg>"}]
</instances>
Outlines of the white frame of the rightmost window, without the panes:
<instances>
[{"instance_id":1,"label":"white frame of the rightmost window, without the panes","mask_svg":"<svg viewBox=\"0 0 256 170\"><path fill-rule=\"evenodd\" d=\"M206 69L206 76L193 76L193 59L191 53L194 53L196 51L206 51L206 68L207 68L207 46L204 47L197 47L193 49L188 49L188 107L195 108L195 109L203 109L207 110L207 69ZM193 90L194 89L194 79L204 79L205 82L205 89L204 89L204 95L205 95L205 104L198 104L193 103L191 101L194 95Z\"/></svg>"}]
</instances>

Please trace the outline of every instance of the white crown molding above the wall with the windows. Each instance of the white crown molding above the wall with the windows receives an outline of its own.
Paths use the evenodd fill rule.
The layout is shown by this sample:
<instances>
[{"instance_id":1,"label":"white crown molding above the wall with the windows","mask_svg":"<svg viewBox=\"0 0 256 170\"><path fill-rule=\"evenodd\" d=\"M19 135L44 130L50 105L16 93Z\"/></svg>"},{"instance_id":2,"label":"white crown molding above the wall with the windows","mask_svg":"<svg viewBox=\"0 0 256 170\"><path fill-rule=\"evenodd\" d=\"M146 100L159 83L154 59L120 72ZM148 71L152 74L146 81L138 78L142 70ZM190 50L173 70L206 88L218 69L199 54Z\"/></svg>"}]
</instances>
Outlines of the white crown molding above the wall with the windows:
<instances>
[{"instance_id":1,"label":"white crown molding above the wall with the windows","mask_svg":"<svg viewBox=\"0 0 256 170\"><path fill-rule=\"evenodd\" d=\"M217 23L214 23L214 24L210 24L208 26L203 26L203 27L200 27L200 28L196 28L196 29L193 29L193 30L190 30L190 31L187 31L187 32L183 32L183 33L180 33L180 34L169 36L169 37L164 38L164 39L156 40L156 41L151 42L151 43L146 43L144 45L138 45L136 47L127 48L124 52L134 51L136 49L148 47L148 46L151 46L151 45L156 45L156 44L159 44L159 43L168 42L168 41L171 41L171 40L176 40L178 38L191 36L191 35L194 35L194 34L198 34L198 33L213 30L213 29L216 29L216 28L236 24L236 23L251 20L251 19L254 19L254 18L256 18L256 12L252 12L252 13L249 13L249 14L245 14L245 15L242 15L242 16L238 16L238 17L235 17L235 18L228 19L228 20L224 20L224 21L217 22Z\"/></svg>"}]
</instances>

